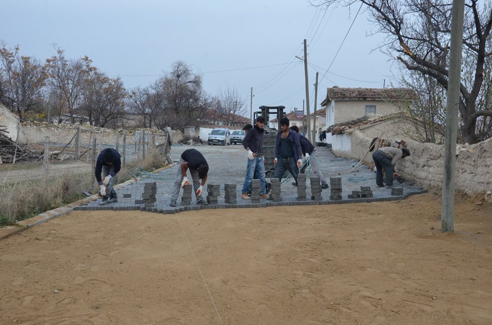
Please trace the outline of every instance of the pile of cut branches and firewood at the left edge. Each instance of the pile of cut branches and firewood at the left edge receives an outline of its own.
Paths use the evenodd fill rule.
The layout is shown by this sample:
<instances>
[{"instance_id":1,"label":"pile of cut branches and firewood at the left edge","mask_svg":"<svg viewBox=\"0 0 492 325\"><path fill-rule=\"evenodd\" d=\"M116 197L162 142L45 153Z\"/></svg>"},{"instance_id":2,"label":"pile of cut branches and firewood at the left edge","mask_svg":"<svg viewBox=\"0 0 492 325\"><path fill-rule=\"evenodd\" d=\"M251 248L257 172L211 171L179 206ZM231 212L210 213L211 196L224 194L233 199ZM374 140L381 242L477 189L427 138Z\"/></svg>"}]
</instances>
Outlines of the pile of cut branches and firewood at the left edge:
<instances>
[{"instance_id":1,"label":"pile of cut branches and firewood at the left edge","mask_svg":"<svg viewBox=\"0 0 492 325\"><path fill-rule=\"evenodd\" d=\"M0 161L3 164L11 164L23 161L43 160L43 154L27 148L27 145L17 144L7 136L6 127L0 126Z\"/></svg>"}]
</instances>

